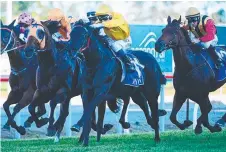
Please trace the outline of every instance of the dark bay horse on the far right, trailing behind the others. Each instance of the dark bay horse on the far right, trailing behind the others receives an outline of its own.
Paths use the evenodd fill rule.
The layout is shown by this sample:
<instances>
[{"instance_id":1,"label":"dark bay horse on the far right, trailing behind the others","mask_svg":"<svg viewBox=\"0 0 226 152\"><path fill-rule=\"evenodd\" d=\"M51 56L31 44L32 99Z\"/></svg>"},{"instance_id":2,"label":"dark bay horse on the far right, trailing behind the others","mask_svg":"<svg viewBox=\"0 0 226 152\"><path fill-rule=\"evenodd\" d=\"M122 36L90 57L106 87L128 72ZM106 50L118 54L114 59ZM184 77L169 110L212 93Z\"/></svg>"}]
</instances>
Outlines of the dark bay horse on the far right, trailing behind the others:
<instances>
[{"instance_id":1,"label":"dark bay horse on the far right, trailing behind the others","mask_svg":"<svg viewBox=\"0 0 226 152\"><path fill-rule=\"evenodd\" d=\"M211 132L219 132L221 128L218 125L211 126L209 124L208 113L212 109L209 93L224 85L226 78L217 79L217 73L211 66L211 63L214 65L212 59L206 55L206 50L201 51L196 45L192 45L187 31L180 27L180 22L181 18L171 22L171 18L168 17L168 24L155 44L155 50L159 53L170 48L173 50L175 95L170 120L181 130L192 124L191 121L181 124L176 118L181 106L189 98L199 104L202 113L197 120L195 133L202 132L201 124ZM226 53L222 52L222 54ZM222 68L225 69L225 67Z\"/></svg>"}]
</instances>

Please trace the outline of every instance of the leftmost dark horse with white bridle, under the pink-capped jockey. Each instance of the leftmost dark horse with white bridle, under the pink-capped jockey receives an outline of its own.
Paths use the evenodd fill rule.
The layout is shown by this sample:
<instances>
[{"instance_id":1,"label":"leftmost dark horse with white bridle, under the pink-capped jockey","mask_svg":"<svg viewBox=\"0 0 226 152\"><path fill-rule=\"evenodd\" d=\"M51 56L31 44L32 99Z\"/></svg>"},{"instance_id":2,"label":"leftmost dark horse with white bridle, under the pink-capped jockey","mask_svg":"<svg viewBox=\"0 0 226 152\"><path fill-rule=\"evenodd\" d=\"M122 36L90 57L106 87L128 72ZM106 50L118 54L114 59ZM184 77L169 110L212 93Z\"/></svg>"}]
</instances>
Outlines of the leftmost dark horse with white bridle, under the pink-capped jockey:
<instances>
[{"instance_id":1,"label":"leftmost dark horse with white bridle, under the pink-capped jockey","mask_svg":"<svg viewBox=\"0 0 226 152\"><path fill-rule=\"evenodd\" d=\"M10 129L10 125L15 128L21 135L25 134L25 129L22 126L17 126L13 120L15 115L28 104L30 104L34 92L36 90L35 85L35 73L38 66L36 56L25 57L23 52L23 42L19 37L19 31L14 26L15 20L10 25L3 25L1 21L1 54L7 53L9 57L11 72L9 76L9 84L11 91L8 95L6 102L3 104L3 108L7 114L8 121L3 126L5 129ZM9 106L16 104L13 109L12 115L9 111ZM44 105L38 107L37 116L40 117L46 113ZM29 117L25 121L25 126L30 125L33 119Z\"/></svg>"}]
</instances>

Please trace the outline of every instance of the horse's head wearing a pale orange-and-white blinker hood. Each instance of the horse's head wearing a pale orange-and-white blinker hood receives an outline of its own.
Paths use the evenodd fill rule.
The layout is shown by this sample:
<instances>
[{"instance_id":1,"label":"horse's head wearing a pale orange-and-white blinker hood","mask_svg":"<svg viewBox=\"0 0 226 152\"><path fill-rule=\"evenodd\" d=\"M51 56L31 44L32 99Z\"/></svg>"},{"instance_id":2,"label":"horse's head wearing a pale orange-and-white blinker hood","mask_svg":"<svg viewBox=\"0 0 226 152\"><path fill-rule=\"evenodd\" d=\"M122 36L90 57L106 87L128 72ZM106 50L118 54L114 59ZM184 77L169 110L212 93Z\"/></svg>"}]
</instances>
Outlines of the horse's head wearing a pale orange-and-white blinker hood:
<instances>
[{"instance_id":1,"label":"horse's head wearing a pale orange-and-white blinker hood","mask_svg":"<svg viewBox=\"0 0 226 152\"><path fill-rule=\"evenodd\" d=\"M47 41L51 35L47 27L45 27L44 22L31 24L25 30L24 35L27 38L27 43L24 48L26 57L32 57L38 50L41 51L49 48Z\"/></svg>"}]
</instances>

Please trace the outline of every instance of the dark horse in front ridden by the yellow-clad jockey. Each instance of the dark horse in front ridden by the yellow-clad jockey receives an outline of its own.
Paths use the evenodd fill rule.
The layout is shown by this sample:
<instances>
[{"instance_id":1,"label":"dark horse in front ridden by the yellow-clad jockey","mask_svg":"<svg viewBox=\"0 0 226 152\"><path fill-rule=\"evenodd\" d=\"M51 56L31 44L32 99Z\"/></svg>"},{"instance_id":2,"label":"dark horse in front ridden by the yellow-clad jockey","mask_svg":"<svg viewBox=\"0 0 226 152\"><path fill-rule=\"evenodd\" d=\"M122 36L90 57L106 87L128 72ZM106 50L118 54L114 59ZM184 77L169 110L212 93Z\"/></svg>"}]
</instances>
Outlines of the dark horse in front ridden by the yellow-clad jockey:
<instances>
[{"instance_id":1,"label":"dark horse in front ridden by the yellow-clad jockey","mask_svg":"<svg viewBox=\"0 0 226 152\"><path fill-rule=\"evenodd\" d=\"M155 141L160 141L157 100L164 76L155 58L149 53L131 52L145 66L145 83L143 86L135 88L121 83L122 70L119 61L108 47L99 42L95 31L86 25L74 26L71 32L71 48L82 51L85 57L85 68L82 70L86 73L86 77L82 80L82 99L86 106L82 117L84 126L80 142L83 142L84 146L88 145L91 116L96 106L107 99L133 98L140 94L148 101L152 117L149 116L148 111L145 112L145 116L148 124L155 130ZM145 108L142 109L145 110ZM99 129L97 129L98 132ZM98 138L100 138L100 133L98 133L97 140L99 140Z\"/></svg>"}]
</instances>

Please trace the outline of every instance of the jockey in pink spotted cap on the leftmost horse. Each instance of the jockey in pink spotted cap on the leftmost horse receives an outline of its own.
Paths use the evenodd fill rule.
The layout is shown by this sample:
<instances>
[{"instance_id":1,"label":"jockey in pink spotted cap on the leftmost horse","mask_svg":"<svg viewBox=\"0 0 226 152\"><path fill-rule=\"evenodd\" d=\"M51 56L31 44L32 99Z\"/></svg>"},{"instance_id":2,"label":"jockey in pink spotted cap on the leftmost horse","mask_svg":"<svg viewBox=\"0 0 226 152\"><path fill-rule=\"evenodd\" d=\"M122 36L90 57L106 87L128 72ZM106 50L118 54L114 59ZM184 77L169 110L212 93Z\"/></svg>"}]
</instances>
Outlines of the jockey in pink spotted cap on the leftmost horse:
<instances>
[{"instance_id":1,"label":"jockey in pink spotted cap on the leftmost horse","mask_svg":"<svg viewBox=\"0 0 226 152\"><path fill-rule=\"evenodd\" d=\"M19 15L17 19L18 25L16 25L16 33L19 33L19 39L22 40L23 42L26 42L26 37L25 37L25 29L29 27L32 23L35 22L35 20L32 18L32 16L29 13L22 13Z\"/></svg>"}]
</instances>

